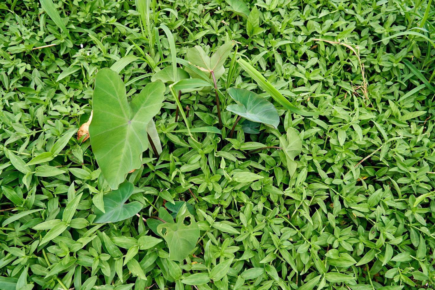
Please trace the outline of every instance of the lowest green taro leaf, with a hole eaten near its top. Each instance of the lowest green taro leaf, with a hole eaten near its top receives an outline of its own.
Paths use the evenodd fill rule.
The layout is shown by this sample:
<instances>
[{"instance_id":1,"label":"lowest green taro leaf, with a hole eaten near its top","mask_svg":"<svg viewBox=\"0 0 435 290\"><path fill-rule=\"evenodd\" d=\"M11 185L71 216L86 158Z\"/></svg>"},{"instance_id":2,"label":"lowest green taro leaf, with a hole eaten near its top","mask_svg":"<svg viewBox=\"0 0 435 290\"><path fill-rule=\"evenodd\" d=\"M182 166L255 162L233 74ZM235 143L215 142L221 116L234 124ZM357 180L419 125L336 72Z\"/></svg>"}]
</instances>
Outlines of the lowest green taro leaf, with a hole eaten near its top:
<instances>
[{"instance_id":1,"label":"lowest green taro leaf, with a hole eaten near its top","mask_svg":"<svg viewBox=\"0 0 435 290\"><path fill-rule=\"evenodd\" d=\"M199 239L199 227L194 217L188 212L184 213L177 223L158 225L157 232L169 247L169 259L179 262L183 261L196 247Z\"/></svg>"}]
</instances>

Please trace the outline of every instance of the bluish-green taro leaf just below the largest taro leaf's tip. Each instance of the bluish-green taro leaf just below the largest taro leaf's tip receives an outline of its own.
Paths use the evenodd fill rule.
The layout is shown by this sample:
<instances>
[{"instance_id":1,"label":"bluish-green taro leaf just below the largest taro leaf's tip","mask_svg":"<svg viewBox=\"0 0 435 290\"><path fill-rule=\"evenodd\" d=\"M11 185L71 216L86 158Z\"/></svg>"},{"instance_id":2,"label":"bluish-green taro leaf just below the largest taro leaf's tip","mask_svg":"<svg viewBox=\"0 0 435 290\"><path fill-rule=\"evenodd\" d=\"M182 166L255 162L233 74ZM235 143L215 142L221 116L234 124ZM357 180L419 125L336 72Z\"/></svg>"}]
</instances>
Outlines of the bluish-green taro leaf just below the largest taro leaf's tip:
<instances>
[{"instance_id":1,"label":"bluish-green taro leaf just below the largest taro leaf's tip","mask_svg":"<svg viewBox=\"0 0 435 290\"><path fill-rule=\"evenodd\" d=\"M125 181L119 185L117 190L105 194L103 197L104 212L95 208L94 212L97 217L94 223L115 223L138 213L142 209L140 202L125 203L133 194L133 190L133 183Z\"/></svg>"}]
</instances>

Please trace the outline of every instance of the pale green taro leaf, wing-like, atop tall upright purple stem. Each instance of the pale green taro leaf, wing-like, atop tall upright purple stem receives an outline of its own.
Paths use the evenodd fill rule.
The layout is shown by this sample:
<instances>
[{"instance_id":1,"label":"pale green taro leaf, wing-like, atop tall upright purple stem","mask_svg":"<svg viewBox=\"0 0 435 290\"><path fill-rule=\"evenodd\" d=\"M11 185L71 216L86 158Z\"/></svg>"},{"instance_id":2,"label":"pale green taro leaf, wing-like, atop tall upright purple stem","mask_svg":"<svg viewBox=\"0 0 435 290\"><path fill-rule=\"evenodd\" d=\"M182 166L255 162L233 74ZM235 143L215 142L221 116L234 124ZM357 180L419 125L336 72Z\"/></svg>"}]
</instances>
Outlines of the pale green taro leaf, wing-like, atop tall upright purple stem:
<instances>
[{"instance_id":1,"label":"pale green taro leaf, wing-like, atop tall upright purple stem","mask_svg":"<svg viewBox=\"0 0 435 290\"><path fill-rule=\"evenodd\" d=\"M196 45L195 47L189 48L187 50L186 60L197 66L207 75L210 75L210 77L210 72L213 71L214 77L216 80L218 80L224 74L224 63L233 46L234 42L224 43L211 55L211 57L208 57L207 53L202 49L202 47ZM188 67L185 67L184 69L191 75L191 77L201 78Z\"/></svg>"}]
</instances>

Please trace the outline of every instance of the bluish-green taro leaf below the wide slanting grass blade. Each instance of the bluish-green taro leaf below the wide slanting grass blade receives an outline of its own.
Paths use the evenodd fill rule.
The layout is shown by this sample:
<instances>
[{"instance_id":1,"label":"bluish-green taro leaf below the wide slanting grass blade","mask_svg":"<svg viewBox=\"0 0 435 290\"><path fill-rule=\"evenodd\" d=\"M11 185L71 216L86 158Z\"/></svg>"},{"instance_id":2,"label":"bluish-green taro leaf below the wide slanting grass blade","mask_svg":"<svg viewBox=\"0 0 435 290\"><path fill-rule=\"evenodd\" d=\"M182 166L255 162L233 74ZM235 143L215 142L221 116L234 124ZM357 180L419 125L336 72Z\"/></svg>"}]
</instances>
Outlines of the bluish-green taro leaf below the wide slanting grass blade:
<instances>
[{"instance_id":1,"label":"bluish-green taro leaf below the wide slanting grass blade","mask_svg":"<svg viewBox=\"0 0 435 290\"><path fill-rule=\"evenodd\" d=\"M238 103L228 105L227 110L250 121L278 127L279 115L275 106L250 90L229 88L230 97Z\"/></svg>"}]
</instances>

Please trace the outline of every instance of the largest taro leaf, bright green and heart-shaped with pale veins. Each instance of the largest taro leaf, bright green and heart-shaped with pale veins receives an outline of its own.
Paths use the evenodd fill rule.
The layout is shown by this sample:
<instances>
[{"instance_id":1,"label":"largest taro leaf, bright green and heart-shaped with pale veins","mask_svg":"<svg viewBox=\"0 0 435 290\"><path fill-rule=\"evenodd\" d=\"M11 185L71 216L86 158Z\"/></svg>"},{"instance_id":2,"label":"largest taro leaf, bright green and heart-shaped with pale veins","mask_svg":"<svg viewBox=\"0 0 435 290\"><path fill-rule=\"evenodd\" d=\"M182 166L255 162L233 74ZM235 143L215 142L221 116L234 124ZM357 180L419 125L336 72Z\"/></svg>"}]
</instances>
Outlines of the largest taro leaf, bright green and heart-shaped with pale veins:
<instances>
[{"instance_id":1,"label":"largest taro leaf, bright green and heart-shaped with pale veins","mask_svg":"<svg viewBox=\"0 0 435 290\"><path fill-rule=\"evenodd\" d=\"M161 108L164 90L160 81L149 83L128 103L117 73L108 68L97 73L90 143L111 189L117 189L128 172L141 167L142 152L148 148L147 125Z\"/></svg>"}]
</instances>

